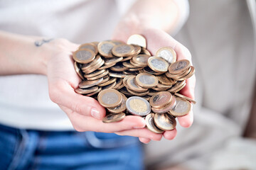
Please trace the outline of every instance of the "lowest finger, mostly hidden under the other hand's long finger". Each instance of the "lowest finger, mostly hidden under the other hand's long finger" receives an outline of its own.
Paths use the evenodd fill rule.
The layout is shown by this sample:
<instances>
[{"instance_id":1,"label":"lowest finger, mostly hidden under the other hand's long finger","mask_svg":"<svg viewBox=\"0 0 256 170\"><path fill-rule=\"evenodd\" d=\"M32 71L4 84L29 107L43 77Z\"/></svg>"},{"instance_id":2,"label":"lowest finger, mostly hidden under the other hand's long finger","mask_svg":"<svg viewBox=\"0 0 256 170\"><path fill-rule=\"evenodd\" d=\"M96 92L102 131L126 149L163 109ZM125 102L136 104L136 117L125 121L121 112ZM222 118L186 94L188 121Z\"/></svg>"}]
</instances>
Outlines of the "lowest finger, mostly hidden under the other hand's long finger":
<instances>
[{"instance_id":1,"label":"lowest finger, mostly hidden under the other hand's long finger","mask_svg":"<svg viewBox=\"0 0 256 170\"><path fill-rule=\"evenodd\" d=\"M117 135L128 135L128 136L134 136L134 137L144 137L149 138L151 140L161 140L162 134L157 134L154 132L151 132L150 130L146 128L140 128L140 129L132 129L132 130L124 130L120 132L115 132Z\"/></svg>"}]
</instances>

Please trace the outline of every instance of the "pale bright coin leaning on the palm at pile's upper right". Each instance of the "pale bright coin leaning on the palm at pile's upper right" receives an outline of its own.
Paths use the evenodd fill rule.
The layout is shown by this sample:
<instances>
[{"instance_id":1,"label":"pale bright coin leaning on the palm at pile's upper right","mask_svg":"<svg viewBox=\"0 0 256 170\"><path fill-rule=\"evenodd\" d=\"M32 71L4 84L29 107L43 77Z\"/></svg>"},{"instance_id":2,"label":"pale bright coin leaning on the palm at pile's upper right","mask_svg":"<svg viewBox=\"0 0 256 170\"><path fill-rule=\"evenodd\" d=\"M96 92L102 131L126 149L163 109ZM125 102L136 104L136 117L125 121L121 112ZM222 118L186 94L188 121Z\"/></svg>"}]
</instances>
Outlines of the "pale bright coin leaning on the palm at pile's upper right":
<instances>
[{"instance_id":1,"label":"pale bright coin leaning on the palm at pile's upper right","mask_svg":"<svg viewBox=\"0 0 256 170\"><path fill-rule=\"evenodd\" d=\"M177 55L171 47L161 47L157 50L156 57L161 57L171 64L176 62Z\"/></svg>"}]
</instances>

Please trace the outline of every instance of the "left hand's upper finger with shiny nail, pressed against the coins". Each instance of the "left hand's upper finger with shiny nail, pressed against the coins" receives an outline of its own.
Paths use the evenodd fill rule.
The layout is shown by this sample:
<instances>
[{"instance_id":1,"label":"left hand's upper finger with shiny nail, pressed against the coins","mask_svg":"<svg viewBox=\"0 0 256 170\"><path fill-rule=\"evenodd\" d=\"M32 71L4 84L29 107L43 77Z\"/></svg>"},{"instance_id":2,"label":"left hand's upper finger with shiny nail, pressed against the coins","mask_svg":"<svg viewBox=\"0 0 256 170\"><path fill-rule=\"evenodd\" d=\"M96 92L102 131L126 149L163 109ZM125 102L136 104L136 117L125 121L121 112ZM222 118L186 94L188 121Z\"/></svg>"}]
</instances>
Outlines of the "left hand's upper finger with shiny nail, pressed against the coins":
<instances>
[{"instance_id":1,"label":"left hand's upper finger with shiny nail, pressed against the coins","mask_svg":"<svg viewBox=\"0 0 256 170\"><path fill-rule=\"evenodd\" d=\"M49 82L50 98L58 105L70 108L75 113L90 115L93 118L105 117L105 108L94 98L75 93L74 89L66 81Z\"/></svg>"}]
</instances>

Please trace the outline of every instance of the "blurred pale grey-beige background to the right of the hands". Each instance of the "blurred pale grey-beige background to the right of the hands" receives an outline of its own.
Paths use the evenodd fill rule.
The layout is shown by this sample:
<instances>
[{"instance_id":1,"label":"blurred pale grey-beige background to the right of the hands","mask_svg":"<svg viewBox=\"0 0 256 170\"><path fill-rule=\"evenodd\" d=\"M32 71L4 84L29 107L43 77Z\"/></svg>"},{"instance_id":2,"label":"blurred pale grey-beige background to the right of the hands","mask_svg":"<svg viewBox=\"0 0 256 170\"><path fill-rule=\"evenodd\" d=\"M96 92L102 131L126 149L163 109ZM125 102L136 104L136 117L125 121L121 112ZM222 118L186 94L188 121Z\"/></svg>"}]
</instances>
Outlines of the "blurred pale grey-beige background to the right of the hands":
<instances>
[{"instance_id":1,"label":"blurred pale grey-beige background to the right of the hands","mask_svg":"<svg viewBox=\"0 0 256 170\"><path fill-rule=\"evenodd\" d=\"M146 145L146 164L149 169L256 169L255 1L189 4L188 21L174 38L188 47L196 67L194 123L178 126L171 142Z\"/></svg>"}]
</instances>

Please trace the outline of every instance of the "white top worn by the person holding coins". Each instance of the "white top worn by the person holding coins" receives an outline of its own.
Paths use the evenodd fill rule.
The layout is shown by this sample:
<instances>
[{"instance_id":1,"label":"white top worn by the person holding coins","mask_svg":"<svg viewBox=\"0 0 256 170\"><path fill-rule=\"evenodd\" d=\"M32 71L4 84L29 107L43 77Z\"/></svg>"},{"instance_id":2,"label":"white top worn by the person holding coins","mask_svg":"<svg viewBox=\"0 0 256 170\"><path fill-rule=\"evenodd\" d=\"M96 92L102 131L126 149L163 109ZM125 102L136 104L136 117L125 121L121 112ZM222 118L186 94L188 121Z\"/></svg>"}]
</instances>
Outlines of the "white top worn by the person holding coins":
<instances>
[{"instance_id":1,"label":"white top worn by the person holding coins","mask_svg":"<svg viewBox=\"0 0 256 170\"><path fill-rule=\"evenodd\" d=\"M75 43L109 40L119 18L133 3L134 0L0 0L0 29L66 38ZM177 3L181 8L188 6L186 0ZM181 15L181 23L187 15L188 11ZM50 101L46 77L33 74L0 77L0 123L38 130L73 129L68 116Z\"/></svg>"}]
</instances>

